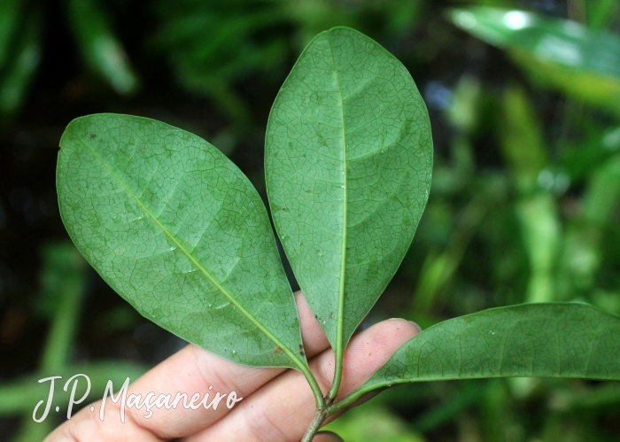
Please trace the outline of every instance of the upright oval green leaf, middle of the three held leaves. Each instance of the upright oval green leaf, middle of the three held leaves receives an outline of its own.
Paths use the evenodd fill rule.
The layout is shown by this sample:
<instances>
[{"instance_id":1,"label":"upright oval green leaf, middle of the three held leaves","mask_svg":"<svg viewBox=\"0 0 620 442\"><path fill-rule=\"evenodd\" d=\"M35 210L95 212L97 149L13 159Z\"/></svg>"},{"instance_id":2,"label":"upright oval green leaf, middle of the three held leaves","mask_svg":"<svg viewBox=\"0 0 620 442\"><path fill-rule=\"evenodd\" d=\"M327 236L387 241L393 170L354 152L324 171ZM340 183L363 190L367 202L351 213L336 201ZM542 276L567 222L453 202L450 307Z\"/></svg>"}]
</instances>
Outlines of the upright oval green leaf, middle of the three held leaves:
<instances>
[{"instance_id":1,"label":"upright oval green leaf, middle of the three held leaves","mask_svg":"<svg viewBox=\"0 0 620 442\"><path fill-rule=\"evenodd\" d=\"M426 106L405 66L353 29L307 46L267 125L267 194L284 251L342 349L411 244L429 194Z\"/></svg>"}]
</instances>

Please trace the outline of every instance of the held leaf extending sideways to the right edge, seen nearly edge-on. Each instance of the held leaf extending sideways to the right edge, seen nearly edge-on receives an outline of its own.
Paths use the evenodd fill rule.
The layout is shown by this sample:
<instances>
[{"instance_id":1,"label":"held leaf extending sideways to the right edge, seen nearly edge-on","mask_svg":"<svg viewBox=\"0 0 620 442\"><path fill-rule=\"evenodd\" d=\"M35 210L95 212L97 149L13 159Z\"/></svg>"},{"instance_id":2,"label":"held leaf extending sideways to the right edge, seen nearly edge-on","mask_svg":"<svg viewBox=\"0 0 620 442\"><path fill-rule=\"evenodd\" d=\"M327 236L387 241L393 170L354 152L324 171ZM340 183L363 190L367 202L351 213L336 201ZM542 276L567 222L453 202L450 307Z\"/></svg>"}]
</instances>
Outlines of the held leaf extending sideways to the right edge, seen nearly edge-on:
<instances>
[{"instance_id":1,"label":"held leaf extending sideways to the right edge, seen nearly edge-on","mask_svg":"<svg viewBox=\"0 0 620 442\"><path fill-rule=\"evenodd\" d=\"M523 304L441 322L412 337L363 390L506 376L620 380L620 317L577 303Z\"/></svg>"}]
</instances>

